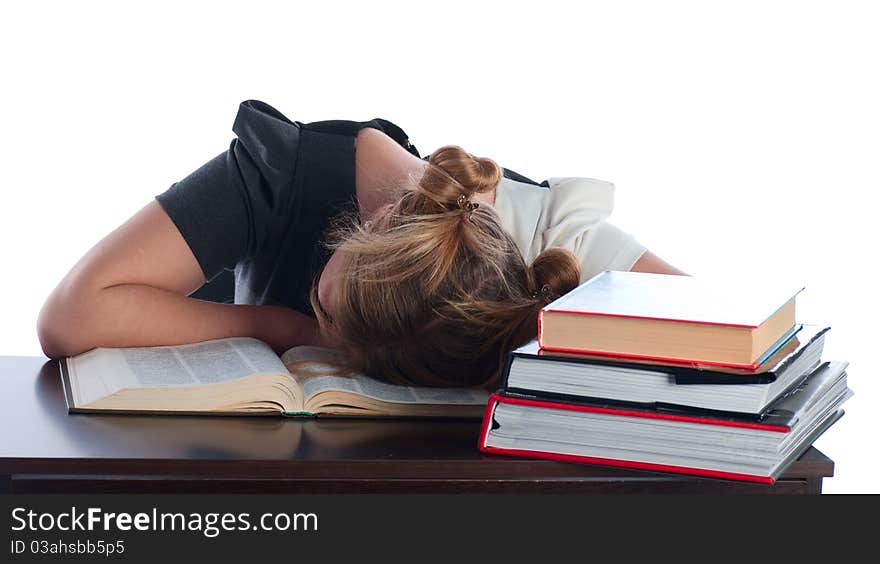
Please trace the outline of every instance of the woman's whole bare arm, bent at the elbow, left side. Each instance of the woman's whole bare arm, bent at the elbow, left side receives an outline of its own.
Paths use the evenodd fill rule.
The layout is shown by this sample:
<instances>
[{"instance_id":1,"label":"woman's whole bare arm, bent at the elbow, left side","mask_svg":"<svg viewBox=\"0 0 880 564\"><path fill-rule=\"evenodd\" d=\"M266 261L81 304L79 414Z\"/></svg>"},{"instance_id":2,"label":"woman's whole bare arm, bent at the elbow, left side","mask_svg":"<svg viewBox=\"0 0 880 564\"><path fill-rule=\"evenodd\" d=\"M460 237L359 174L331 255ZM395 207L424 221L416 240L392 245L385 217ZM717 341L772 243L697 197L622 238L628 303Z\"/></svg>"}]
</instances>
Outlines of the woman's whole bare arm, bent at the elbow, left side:
<instances>
[{"instance_id":1,"label":"woman's whole bare arm, bent at the elbow, left side","mask_svg":"<svg viewBox=\"0 0 880 564\"><path fill-rule=\"evenodd\" d=\"M151 201L92 247L52 291L37 332L50 358L103 347L252 336L276 352L319 344L315 321L290 308L187 297L204 275L177 227Z\"/></svg>"}]
</instances>

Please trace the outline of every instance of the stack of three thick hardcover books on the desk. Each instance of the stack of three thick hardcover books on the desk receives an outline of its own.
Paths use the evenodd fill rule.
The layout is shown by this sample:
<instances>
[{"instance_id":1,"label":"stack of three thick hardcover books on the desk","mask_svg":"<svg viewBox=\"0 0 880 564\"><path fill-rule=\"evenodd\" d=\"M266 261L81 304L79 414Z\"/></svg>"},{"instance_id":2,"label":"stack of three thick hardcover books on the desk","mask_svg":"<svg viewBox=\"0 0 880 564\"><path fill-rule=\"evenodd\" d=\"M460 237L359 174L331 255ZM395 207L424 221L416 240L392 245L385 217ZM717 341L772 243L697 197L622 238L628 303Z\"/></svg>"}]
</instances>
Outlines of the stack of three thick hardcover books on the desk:
<instances>
[{"instance_id":1,"label":"stack of three thick hardcover books on the desk","mask_svg":"<svg viewBox=\"0 0 880 564\"><path fill-rule=\"evenodd\" d=\"M600 273L508 356L480 449L772 483L852 395L802 289Z\"/></svg>"}]
</instances>

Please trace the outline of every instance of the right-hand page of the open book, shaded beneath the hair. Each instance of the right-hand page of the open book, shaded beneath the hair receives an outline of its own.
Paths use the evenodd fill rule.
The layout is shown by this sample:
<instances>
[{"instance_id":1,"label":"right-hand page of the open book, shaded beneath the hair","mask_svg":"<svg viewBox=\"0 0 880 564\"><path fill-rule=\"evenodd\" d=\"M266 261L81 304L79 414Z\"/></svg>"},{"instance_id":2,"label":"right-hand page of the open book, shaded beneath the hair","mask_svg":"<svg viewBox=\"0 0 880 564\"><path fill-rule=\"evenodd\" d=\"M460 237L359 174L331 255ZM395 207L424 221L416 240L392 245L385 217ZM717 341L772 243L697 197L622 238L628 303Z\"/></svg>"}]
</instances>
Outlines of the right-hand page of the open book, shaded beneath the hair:
<instances>
[{"instance_id":1,"label":"right-hand page of the open book, shaded beneath the hair","mask_svg":"<svg viewBox=\"0 0 880 564\"><path fill-rule=\"evenodd\" d=\"M328 390L346 391L392 403L485 404L489 393L470 388L428 388L380 382L350 371L345 354L324 347L293 347L281 359L305 398Z\"/></svg>"}]
</instances>

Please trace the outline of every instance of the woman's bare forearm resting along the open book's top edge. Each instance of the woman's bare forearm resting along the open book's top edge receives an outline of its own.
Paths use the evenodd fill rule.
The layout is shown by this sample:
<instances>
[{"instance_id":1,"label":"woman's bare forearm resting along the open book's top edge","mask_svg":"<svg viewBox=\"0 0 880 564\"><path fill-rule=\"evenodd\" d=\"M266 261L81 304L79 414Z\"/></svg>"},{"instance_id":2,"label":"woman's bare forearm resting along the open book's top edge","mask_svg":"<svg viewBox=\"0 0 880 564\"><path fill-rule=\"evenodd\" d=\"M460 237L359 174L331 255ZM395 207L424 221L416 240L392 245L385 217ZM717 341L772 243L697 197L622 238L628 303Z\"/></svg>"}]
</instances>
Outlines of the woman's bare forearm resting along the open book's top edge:
<instances>
[{"instance_id":1,"label":"woman's bare forearm resting along the open book's top edge","mask_svg":"<svg viewBox=\"0 0 880 564\"><path fill-rule=\"evenodd\" d=\"M256 337L276 352L317 344L315 321L290 308L221 304L141 284L88 296L55 293L37 322L43 352L72 356L95 347L175 345L222 337Z\"/></svg>"}]
</instances>

